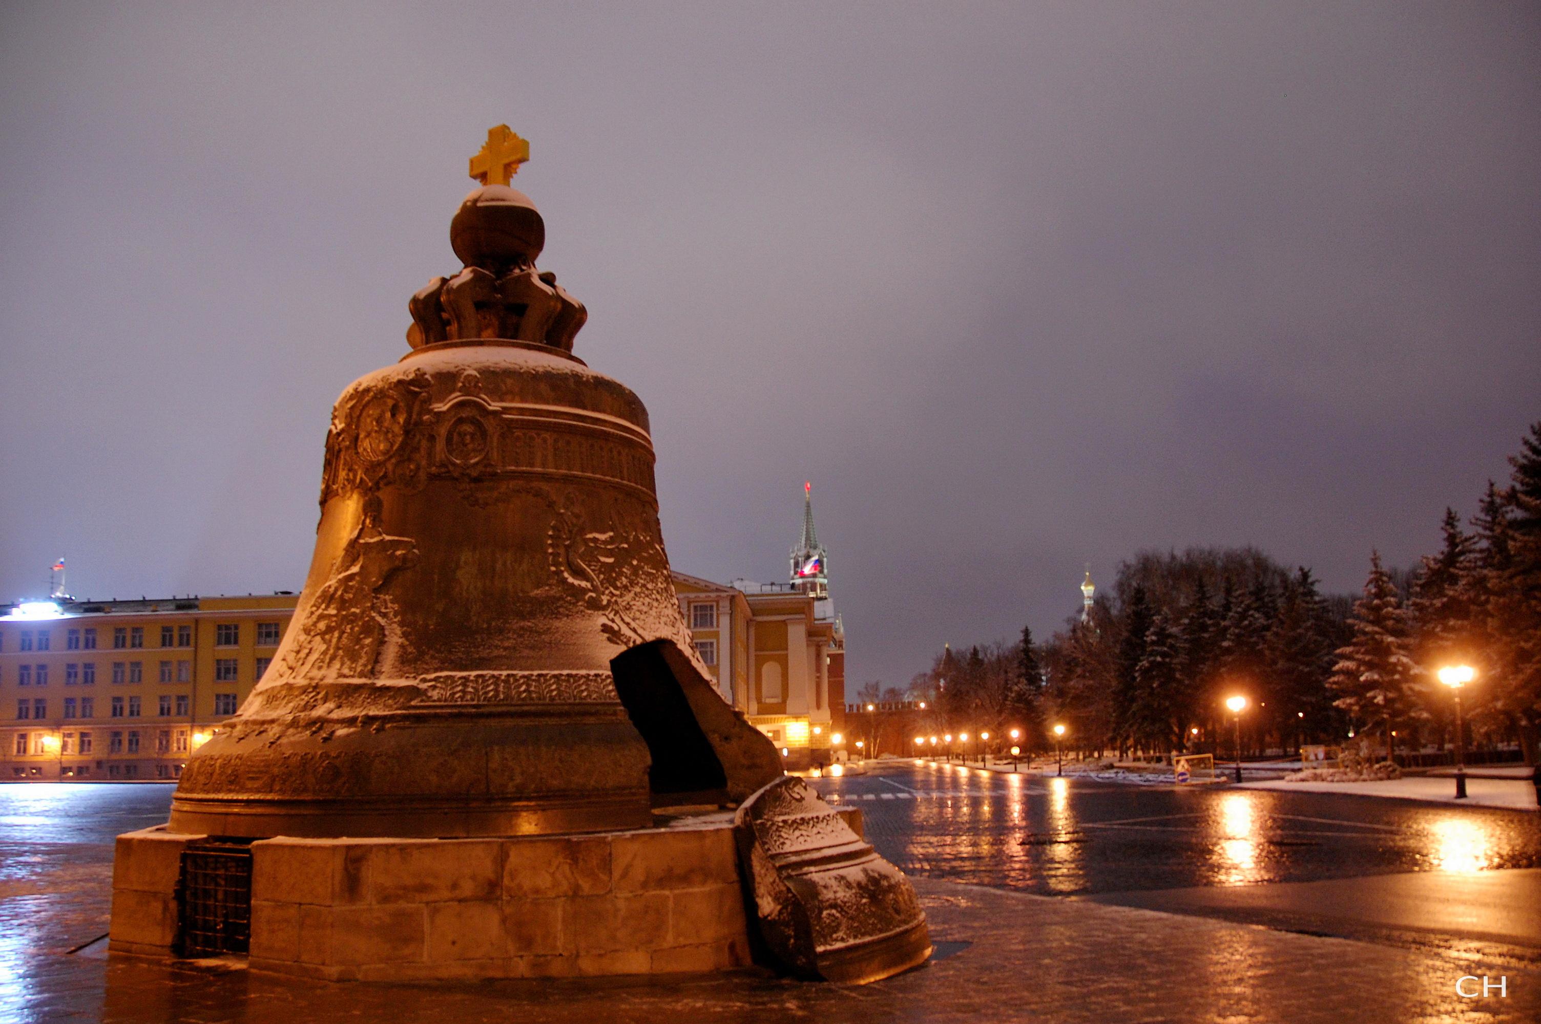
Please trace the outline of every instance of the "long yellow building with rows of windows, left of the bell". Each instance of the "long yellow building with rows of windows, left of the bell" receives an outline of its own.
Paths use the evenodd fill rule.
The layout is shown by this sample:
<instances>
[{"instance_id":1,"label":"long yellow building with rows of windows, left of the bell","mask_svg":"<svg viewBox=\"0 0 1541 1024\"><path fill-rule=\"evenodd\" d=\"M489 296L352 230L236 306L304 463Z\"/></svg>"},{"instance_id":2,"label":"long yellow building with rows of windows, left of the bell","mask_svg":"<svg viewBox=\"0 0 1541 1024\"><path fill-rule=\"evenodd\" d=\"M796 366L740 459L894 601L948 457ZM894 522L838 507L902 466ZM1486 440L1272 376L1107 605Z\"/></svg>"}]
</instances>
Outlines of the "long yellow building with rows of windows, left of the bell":
<instances>
[{"instance_id":1,"label":"long yellow building with rows of windows, left of the bell","mask_svg":"<svg viewBox=\"0 0 1541 1024\"><path fill-rule=\"evenodd\" d=\"M0 617L0 779L177 778L190 748L251 693L296 601L11 608Z\"/></svg>"}]
</instances>

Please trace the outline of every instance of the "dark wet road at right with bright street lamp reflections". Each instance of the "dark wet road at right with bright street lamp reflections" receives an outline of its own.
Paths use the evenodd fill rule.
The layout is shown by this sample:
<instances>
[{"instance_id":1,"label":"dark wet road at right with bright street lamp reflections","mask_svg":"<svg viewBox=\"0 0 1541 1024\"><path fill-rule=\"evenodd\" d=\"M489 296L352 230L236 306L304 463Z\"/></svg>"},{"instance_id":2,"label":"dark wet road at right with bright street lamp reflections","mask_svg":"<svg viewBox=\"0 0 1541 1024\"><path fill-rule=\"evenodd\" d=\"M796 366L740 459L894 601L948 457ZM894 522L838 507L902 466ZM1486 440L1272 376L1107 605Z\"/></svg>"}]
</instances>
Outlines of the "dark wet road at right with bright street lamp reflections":
<instances>
[{"instance_id":1,"label":"dark wet road at right with bright street lamp reflections","mask_svg":"<svg viewBox=\"0 0 1541 1024\"><path fill-rule=\"evenodd\" d=\"M905 872L1048 896L1541 867L1535 812L931 761L814 785L860 807L868 841Z\"/></svg>"}]
</instances>

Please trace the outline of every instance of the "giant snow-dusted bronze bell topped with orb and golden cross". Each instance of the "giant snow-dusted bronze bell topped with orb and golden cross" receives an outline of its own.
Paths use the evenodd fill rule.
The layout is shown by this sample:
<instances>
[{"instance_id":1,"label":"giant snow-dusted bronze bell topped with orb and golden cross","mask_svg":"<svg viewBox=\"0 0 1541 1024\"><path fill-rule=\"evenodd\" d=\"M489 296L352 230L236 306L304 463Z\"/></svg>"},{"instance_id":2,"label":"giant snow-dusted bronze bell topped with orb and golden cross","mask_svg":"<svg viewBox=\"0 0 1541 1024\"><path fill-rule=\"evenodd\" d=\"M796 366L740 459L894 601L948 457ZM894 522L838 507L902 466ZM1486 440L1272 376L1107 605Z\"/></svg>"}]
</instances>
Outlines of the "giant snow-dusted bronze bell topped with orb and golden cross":
<instances>
[{"instance_id":1,"label":"giant snow-dusted bronze bell topped with orb and golden cross","mask_svg":"<svg viewBox=\"0 0 1541 1024\"><path fill-rule=\"evenodd\" d=\"M470 836L627 828L781 765L712 690L675 597L647 410L572 354L587 313L499 125L411 297L410 351L333 407L321 524L282 645L188 761L174 832Z\"/></svg>"}]
</instances>

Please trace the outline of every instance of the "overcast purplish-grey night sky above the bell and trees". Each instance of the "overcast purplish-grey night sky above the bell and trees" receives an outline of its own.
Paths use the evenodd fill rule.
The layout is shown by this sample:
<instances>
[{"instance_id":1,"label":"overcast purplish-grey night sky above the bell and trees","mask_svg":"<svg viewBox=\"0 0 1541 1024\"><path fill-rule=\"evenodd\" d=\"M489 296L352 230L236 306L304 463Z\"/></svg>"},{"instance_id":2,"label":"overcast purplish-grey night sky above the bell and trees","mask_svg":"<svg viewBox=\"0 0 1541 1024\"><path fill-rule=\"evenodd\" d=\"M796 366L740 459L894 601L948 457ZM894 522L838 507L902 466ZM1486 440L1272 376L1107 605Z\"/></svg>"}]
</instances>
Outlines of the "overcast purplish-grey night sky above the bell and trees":
<instances>
[{"instance_id":1,"label":"overcast purplish-grey night sky above the bell and trees","mask_svg":"<svg viewBox=\"0 0 1541 1024\"><path fill-rule=\"evenodd\" d=\"M852 687L1140 548L1358 590L1541 419L1533 3L8 3L0 95L5 601L297 588L499 122L675 568L811 479Z\"/></svg>"}]
</instances>

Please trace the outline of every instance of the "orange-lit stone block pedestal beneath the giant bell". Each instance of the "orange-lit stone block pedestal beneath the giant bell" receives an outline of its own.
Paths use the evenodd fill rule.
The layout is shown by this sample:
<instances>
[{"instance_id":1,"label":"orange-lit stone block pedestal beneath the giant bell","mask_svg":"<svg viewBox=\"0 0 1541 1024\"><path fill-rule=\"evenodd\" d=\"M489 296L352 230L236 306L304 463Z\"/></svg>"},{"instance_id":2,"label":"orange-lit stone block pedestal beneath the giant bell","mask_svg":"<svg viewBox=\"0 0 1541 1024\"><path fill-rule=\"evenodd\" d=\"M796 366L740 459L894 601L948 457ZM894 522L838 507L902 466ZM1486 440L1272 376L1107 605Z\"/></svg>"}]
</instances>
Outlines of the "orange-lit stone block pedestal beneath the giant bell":
<instances>
[{"instance_id":1,"label":"orange-lit stone block pedestal beneath the giant bell","mask_svg":"<svg viewBox=\"0 0 1541 1024\"><path fill-rule=\"evenodd\" d=\"M179 865L200 839L119 836L114 952L176 955ZM327 979L746 967L732 818L529 839L259 839L250 961Z\"/></svg>"}]
</instances>

